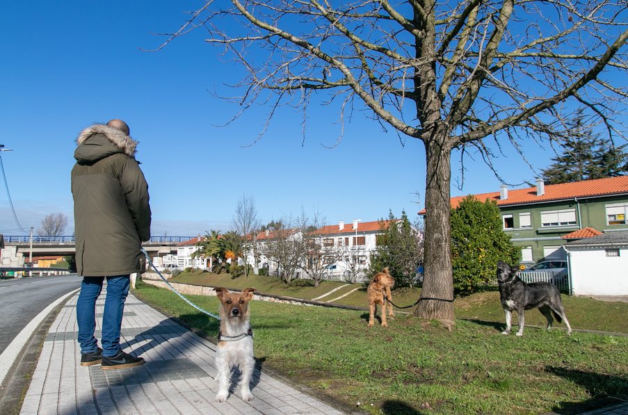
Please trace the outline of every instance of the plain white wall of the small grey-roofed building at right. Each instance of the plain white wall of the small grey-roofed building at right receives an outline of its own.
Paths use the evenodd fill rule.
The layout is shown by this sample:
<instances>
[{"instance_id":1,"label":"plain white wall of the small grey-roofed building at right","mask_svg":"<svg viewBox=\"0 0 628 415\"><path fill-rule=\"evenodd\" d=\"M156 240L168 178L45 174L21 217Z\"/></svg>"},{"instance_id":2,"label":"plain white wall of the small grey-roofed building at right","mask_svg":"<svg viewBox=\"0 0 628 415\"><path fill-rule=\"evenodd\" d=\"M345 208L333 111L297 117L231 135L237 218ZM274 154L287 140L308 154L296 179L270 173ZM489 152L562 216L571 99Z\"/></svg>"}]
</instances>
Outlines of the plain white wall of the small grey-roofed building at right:
<instances>
[{"instance_id":1,"label":"plain white wall of the small grey-roofed building at right","mask_svg":"<svg viewBox=\"0 0 628 415\"><path fill-rule=\"evenodd\" d=\"M628 248L619 257L602 249L570 247L574 295L628 295Z\"/></svg>"}]
</instances>

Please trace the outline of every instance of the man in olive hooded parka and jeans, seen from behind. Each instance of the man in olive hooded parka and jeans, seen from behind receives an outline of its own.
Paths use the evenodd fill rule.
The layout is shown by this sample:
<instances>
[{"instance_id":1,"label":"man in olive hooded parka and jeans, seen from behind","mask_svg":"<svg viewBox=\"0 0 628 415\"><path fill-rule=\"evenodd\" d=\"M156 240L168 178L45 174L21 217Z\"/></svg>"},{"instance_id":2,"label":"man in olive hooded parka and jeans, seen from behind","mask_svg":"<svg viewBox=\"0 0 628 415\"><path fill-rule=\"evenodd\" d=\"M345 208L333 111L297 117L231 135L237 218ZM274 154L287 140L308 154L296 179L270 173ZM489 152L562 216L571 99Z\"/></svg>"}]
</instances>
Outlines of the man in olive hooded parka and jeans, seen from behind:
<instances>
[{"instance_id":1,"label":"man in olive hooded parka and jeans, seen from behind","mask_svg":"<svg viewBox=\"0 0 628 415\"><path fill-rule=\"evenodd\" d=\"M103 369L139 366L120 348L129 276L141 272L141 243L150 239L148 184L135 159L138 142L122 120L94 124L77 138L72 168L77 272L83 277L77 301L81 366ZM102 349L94 336L96 300L107 279Z\"/></svg>"}]
</instances>

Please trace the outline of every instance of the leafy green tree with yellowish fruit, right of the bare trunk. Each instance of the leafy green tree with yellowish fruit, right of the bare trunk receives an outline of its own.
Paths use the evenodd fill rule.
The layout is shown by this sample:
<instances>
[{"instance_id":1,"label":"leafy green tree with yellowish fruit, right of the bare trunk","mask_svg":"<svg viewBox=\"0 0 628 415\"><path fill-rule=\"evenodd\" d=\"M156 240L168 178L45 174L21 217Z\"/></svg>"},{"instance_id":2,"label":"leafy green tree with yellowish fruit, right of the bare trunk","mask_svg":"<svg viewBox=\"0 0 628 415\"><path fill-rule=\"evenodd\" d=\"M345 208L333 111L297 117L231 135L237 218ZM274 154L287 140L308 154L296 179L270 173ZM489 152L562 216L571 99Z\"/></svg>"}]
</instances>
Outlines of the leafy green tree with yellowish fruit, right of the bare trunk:
<instances>
[{"instance_id":1,"label":"leafy green tree with yellowish fruit, right of the bare trunk","mask_svg":"<svg viewBox=\"0 0 628 415\"><path fill-rule=\"evenodd\" d=\"M453 288L469 294L495 278L497 261L518 263L521 249L502 229L497 202L480 202L473 196L451 210Z\"/></svg>"}]
</instances>

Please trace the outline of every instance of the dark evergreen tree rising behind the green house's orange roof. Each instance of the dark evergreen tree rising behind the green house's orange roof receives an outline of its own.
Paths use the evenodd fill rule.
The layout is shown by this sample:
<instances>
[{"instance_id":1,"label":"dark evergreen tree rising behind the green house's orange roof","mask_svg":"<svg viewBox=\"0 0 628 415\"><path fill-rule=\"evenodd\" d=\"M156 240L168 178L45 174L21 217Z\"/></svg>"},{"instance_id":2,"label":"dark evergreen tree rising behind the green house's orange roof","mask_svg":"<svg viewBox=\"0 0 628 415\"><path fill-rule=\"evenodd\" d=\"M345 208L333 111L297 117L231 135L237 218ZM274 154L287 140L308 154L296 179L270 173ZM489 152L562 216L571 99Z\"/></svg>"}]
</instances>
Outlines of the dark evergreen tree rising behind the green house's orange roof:
<instances>
[{"instance_id":1,"label":"dark evergreen tree rising behind the green house's orange roof","mask_svg":"<svg viewBox=\"0 0 628 415\"><path fill-rule=\"evenodd\" d=\"M623 152L625 146L615 147L611 140L593 133L582 111L577 113L569 127L571 136L563 143L563 154L552 158L554 163L542 171L546 184L603 179L628 173Z\"/></svg>"}]
</instances>

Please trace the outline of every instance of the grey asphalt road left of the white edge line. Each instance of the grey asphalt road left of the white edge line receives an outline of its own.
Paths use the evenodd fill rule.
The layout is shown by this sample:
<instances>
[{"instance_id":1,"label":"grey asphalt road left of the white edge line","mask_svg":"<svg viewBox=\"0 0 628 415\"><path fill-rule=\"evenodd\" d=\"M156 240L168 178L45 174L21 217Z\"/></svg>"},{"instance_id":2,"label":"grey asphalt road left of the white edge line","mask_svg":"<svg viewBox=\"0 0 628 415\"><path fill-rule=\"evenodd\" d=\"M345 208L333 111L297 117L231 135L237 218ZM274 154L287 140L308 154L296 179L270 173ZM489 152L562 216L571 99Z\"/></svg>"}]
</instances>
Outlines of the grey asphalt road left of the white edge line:
<instances>
[{"instance_id":1,"label":"grey asphalt road left of the white edge line","mask_svg":"<svg viewBox=\"0 0 628 415\"><path fill-rule=\"evenodd\" d=\"M40 311L80 286L76 274L0 280L0 354Z\"/></svg>"}]
</instances>

